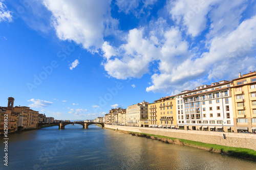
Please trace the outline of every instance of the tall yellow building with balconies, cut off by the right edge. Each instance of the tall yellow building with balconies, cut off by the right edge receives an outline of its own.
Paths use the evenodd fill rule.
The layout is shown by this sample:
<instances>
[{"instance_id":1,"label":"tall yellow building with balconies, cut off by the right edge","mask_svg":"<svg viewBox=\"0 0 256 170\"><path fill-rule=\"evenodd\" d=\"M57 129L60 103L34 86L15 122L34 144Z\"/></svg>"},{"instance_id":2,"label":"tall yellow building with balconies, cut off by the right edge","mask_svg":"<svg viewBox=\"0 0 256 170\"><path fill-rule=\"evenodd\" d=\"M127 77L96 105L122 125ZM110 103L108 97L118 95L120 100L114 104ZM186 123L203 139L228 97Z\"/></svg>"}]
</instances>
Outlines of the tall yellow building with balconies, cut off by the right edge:
<instances>
[{"instance_id":1,"label":"tall yellow building with balconies, cut off by the right edge","mask_svg":"<svg viewBox=\"0 0 256 170\"><path fill-rule=\"evenodd\" d=\"M230 85L235 132L256 131L256 72L241 75Z\"/></svg>"}]
</instances>

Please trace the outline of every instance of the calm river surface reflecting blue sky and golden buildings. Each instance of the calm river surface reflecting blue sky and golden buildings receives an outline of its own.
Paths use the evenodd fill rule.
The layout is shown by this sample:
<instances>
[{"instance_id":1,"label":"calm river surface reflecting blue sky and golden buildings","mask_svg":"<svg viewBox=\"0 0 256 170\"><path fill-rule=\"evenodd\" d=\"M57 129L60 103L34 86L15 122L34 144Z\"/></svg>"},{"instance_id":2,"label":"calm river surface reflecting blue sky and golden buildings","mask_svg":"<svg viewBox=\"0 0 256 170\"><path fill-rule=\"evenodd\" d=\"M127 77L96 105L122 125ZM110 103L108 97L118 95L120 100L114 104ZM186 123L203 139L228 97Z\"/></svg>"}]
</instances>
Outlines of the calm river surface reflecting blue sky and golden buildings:
<instances>
[{"instance_id":1,"label":"calm river surface reflecting blue sky and golden buildings","mask_svg":"<svg viewBox=\"0 0 256 170\"><path fill-rule=\"evenodd\" d=\"M256 162L167 144L90 125L48 127L1 136L0 169L256 169Z\"/></svg>"}]
</instances>

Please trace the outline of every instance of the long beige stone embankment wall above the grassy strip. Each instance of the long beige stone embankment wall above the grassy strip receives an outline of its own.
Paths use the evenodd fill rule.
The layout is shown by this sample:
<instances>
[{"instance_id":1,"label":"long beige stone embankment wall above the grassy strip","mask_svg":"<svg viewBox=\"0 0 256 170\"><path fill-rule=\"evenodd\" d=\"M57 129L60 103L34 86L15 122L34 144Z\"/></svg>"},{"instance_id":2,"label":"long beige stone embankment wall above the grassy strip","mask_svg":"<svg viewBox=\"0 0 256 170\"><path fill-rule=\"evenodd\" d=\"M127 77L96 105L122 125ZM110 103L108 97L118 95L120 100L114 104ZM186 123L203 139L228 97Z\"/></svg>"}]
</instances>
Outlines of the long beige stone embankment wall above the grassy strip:
<instances>
[{"instance_id":1,"label":"long beige stone embankment wall above the grassy strip","mask_svg":"<svg viewBox=\"0 0 256 170\"><path fill-rule=\"evenodd\" d=\"M179 139L194 140L204 143L225 145L227 147L247 148L256 151L256 134L250 133L230 133L230 132L211 132L195 130L175 130L161 128L139 128L127 126L105 125L105 128L162 135ZM223 134L226 139L223 139Z\"/></svg>"}]
</instances>

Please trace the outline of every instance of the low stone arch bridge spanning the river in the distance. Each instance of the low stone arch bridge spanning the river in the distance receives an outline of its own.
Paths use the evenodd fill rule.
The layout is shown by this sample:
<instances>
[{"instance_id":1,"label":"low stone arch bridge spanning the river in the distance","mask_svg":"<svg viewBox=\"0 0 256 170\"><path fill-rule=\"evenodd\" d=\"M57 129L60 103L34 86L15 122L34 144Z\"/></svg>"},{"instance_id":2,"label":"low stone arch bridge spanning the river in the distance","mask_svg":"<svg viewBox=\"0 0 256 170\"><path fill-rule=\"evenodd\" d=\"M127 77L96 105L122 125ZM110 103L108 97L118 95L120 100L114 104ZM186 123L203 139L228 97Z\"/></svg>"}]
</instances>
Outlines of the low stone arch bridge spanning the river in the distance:
<instances>
[{"instance_id":1,"label":"low stone arch bridge spanning the river in the distance","mask_svg":"<svg viewBox=\"0 0 256 170\"><path fill-rule=\"evenodd\" d=\"M104 123L99 123L99 122L62 122L62 123L40 123L38 124L38 129L40 129L42 126L47 126L47 125L57 125L59 127L59 129L65 129L65 126L66 125L74 125L74 124L79 124L79 125L82 125L82 128L83 129L88 129L88 126L89 125L92 125L92 124L98 124L98 125L101 125L102 128L104 128Z\"/></svg>"}]
</instances>

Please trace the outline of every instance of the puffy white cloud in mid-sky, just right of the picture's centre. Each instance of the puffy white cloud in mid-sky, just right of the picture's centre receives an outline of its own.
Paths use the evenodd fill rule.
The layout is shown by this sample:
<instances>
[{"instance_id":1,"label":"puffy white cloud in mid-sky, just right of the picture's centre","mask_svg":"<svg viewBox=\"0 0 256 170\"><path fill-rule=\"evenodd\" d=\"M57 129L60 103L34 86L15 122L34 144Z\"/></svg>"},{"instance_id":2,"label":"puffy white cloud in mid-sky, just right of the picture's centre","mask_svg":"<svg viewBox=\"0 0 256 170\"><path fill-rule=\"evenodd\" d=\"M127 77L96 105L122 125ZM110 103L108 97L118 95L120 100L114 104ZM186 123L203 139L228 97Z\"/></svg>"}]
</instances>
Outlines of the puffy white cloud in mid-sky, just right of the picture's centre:
<instances>
[{"instance_id":1,"label":"puffy white cloud in mid-sky, just right of the picture's centre","mask_svg":"<svg viewBox=\"0 0 256 170\"><path fill-rule=\"evenodd\" d=\"M127 43L119 47L122 58L109 59L103 63L108 74L117 79L141 78L148 72L148 66L157 59L160 50L150 39L143 38L143 29L129 31Z\"/></svg>"}]
</instances>

